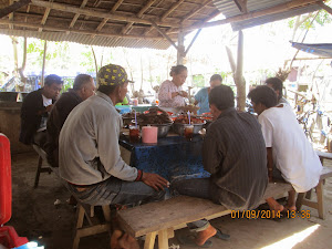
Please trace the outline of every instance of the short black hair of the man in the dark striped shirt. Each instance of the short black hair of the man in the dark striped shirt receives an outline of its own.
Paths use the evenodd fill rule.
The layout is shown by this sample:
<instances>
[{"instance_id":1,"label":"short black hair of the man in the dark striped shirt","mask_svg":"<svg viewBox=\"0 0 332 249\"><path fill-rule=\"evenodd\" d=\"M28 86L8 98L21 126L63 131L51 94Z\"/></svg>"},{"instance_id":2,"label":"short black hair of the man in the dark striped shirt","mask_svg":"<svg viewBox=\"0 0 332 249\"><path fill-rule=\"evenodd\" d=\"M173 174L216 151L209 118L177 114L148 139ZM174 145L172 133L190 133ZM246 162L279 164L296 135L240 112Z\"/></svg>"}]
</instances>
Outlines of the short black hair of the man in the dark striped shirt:
<instances>
[{"instance_id":1,"label":"short black hair of the man in the dark striped shirt","mask_svg":"<svg viewBox=\"0 0 332 249\"><path fill-rule=\"evenodd\" d=\"M209 104L214 104L219 111L234 107L235 97L231 87L228 85L218 85L210 91Z\"/></svg>"}]
</instances>

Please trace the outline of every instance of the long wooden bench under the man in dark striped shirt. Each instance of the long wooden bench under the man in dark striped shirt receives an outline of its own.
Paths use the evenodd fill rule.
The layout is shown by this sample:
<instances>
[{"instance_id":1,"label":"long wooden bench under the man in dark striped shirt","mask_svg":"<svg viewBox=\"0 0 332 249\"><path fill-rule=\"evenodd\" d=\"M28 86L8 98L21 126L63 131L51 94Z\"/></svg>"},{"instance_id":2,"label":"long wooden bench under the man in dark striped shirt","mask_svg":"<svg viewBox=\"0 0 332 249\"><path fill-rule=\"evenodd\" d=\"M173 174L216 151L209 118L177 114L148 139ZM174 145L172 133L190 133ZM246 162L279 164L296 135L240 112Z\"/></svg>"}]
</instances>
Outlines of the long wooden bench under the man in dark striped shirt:
<instances>
[{"instance_id":1,"label":"long wooden bench under the man in dark striped shirt","mask_svg":"<svg viewBox=\"0 0 332 249\"><path fill-rule=\"evenodd\" d=\"M332 175L332 169L324 168L321 178ZM321 181L320 181L321 183ZM321 185L319 184L321 187ZM318 186L318 187L319 187ZM280 198L287 195L292 186L287 183L269 183L261 204L268 197ZM322 191L318 191L322 195ZM322 207L322 196L318 198ZM302 205L307 205L302 203ZM186 224L199 219L214 219L230 214L231 210L210 200L189 196L177 196L167 200L151 203L118 211L118 221L122 228L137 238L146 236L144 249L153 249L158 236L158 248L168 249L168 238L174 237L174 230L186 227Z\"/></svg>"}]
</instances>

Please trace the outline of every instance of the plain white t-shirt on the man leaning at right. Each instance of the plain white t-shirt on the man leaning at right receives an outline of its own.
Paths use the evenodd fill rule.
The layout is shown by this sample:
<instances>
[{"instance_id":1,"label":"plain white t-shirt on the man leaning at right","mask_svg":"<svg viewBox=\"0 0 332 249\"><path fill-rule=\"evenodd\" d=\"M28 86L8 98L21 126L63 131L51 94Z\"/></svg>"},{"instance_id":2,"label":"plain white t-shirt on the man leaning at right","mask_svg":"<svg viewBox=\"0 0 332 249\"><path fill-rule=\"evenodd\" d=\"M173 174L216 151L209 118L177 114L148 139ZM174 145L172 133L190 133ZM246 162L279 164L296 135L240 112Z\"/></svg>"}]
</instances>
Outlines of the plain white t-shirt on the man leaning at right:
<instances>
[{"instance_id":1,"label":"plain white t-shirt on the man leaning at right","mask_svg":"<svg viewBox=\"0 0 332 249\"><path fill-rule=\"evenodd\" d=\"M258 121L267 147L272 147L273 163L297 193L304 193L319 183L322 165L307 139L291 108L271 107Z\"/></svg>"}]
</instances>

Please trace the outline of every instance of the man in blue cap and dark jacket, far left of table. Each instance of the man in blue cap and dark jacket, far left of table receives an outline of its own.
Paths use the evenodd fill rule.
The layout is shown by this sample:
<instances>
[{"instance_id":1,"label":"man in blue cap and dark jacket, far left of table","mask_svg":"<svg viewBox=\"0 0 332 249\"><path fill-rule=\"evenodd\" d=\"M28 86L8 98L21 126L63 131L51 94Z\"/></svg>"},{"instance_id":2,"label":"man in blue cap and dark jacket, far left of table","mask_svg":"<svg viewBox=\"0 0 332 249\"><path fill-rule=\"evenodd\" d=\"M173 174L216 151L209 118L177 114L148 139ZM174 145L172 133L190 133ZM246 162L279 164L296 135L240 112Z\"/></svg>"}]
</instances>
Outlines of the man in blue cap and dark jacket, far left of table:
<instances>
[{"instance_id":1,"label":"man in blue cap and dark jacket, far left of table","mask_svg":"<svg viewBox=\"0 0 332 249\"><path fill-rule=\"evenodd\" d=\"M62 90L63 81L55 74L45 77L44 87L29 93L21 107L20 142L44 146L46 142L46 122L53 103Z\"/></svg>"}]
</instances>

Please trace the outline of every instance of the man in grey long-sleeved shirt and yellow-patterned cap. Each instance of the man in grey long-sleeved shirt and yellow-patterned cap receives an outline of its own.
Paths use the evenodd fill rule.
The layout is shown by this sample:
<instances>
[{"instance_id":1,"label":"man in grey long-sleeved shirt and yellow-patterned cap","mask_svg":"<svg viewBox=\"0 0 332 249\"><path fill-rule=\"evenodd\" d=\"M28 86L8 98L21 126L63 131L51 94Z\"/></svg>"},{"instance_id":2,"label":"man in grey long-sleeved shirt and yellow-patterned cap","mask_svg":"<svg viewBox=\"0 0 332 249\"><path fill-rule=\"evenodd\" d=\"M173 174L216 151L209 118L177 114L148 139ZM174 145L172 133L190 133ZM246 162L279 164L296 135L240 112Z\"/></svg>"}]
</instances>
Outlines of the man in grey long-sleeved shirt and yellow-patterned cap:
<instances>
[{"instance_id":1,"label":"man in grey long-sleeved shirt and yellow-patterned cap","mask_svg":"<svg viewBox=\"0 0 332 249\"><path fill-rule=\"evenodd\" d=\"M120 65L98 71L95 96L68 116L59 139L59 172L69 190L90 205L129 205L164 198L169 184L157 174L143 173L121 157L122 116L114 105L123 102L128 79Z\"/></svg>"}]
</instances>

